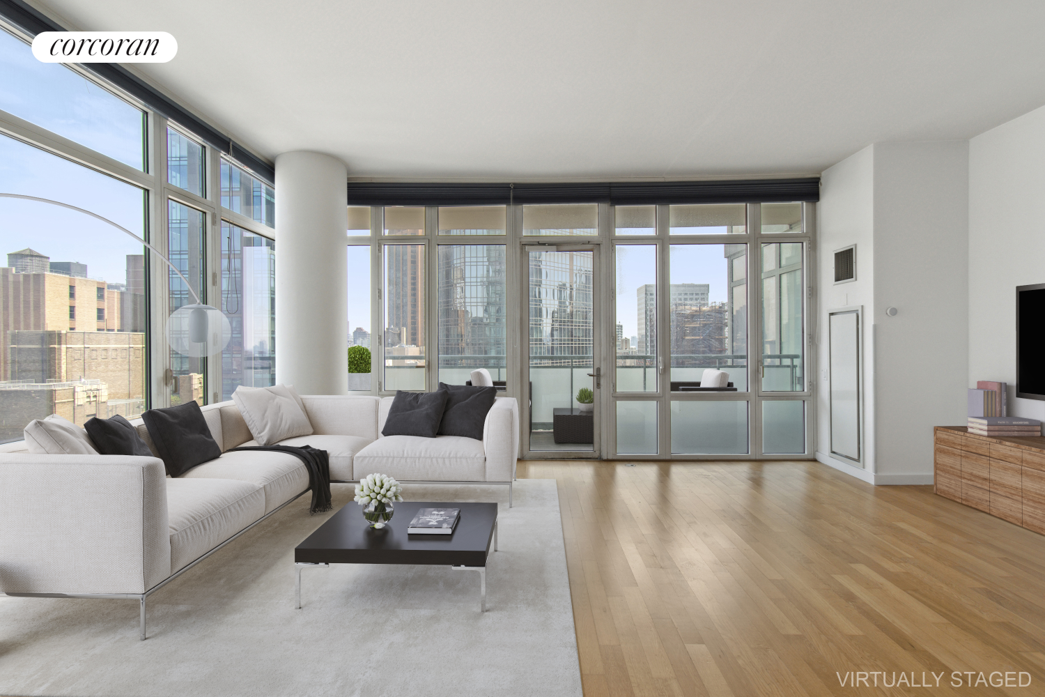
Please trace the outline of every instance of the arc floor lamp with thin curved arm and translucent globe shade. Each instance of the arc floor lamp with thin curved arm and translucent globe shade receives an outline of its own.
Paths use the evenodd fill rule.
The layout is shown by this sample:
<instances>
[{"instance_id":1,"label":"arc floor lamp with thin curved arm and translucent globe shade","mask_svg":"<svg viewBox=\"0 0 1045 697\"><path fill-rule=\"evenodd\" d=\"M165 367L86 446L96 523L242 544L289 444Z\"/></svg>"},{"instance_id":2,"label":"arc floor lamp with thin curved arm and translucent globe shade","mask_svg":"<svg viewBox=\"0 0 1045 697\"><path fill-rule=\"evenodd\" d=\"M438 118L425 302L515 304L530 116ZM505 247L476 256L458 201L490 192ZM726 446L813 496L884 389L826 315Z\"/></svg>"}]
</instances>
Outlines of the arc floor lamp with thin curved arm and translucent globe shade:
<instances>
[{"instance_id":1,"label":"arc floor lamp with thin curved arm and translucent globe shade","mask_svg":"<svg viewBox=\"0 0 1045 697\"><path fill-rule=\"evenodd\" d=\"M37 201L40 203L51 204L52 206L61 206L62 208L79 211L80 213L90 215L91 217L97 218L102 223L108 223L120 232L130 235L132 238L152 250L152 252L158 257L163 259L166 264L170 266L176 274L178 274L182 281L184 281L185 287L188 288L193 300L195 300L195 304L183 305L175 310L170 318L168 318L167 342L170 344L170 348L182 355L186 355L191 358L201 358L219 353L222 349L229 345L229 340L232 338L232 325L229 324L229 320L225 317L225 313L216 307L205 305L200 302L200 296L192 289L192 284L189 283L189 279L185 278L185 274L183 274L178 266L170 263L170 259L163 255L158 249L146 242L138 235L134 234L126 228L113 223L107 217L102 217L97 213L92 213L91 211L83 208L77 208L76 206L64 204L61 201L51 201L50 199L41 199L39 196L28 196L23 193L0 193L0 199L24 199L26 201Z\"/></svg>"}]
</instances>

